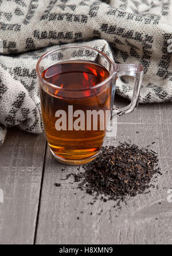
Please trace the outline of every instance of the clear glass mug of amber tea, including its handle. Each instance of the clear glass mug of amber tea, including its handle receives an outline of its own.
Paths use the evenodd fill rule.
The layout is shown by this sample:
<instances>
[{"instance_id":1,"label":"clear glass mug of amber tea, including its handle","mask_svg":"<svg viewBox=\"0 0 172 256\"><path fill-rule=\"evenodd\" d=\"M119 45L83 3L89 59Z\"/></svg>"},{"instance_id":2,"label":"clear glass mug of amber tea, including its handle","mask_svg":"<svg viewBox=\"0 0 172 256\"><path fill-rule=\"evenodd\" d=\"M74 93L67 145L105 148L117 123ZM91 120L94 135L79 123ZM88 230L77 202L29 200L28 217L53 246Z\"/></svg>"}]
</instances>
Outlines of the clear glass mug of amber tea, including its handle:
<instances>
[{"instance_id":1,"label":"clear glass mug of amber tea, including its handle","mask_svg":"<svg viewBox=\"0 0 172 256\"><path fill-rule=\"evenodd\" d=\"M122 115L138 106L143 66L116 64L91 47L64 46L42 55L37 76L50 151L62 163L80 165L100 152L112 110ZM135 84L130 105L119 109L114 97L121 76Z\"/></svg>"}]
</instances>

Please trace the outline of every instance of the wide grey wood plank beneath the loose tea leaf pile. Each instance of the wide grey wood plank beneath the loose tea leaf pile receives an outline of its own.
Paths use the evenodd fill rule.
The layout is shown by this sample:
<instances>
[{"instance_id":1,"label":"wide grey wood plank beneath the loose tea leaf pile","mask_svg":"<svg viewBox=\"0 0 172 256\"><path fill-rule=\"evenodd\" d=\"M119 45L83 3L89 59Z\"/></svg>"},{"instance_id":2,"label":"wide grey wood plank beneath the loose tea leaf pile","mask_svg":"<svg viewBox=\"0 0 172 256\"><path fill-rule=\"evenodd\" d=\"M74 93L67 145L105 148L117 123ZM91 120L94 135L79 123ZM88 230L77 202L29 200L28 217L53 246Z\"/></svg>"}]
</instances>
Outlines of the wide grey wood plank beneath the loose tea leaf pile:
<instances>
[{"instance_id":1,"label":"wide grey wood plank beneath the loose tea leaf pile","mask_svg":"<svg viewBox=\"0 0 172 256\"><path fill-rule=\"evenodd\" d=\"M171 103L140 104L135 112L118 117L116 140L106 138L107 145L131 140L142 147L155 141L151 148L159 153L163 172L154 182L158 190L128 199L128 204L118 212L112 207L113 202L88 205L91 196L77 190L77 183L70 184L72 178L60 180L77 172L77 168L66 167L62 171L63 166L53 160L48 150L36 243L171 244L172 203L167 201L168 190L172 188L171 111ZM61 187L55 187L55 182L60 182Z\"/></svg>"}]
</instances>

